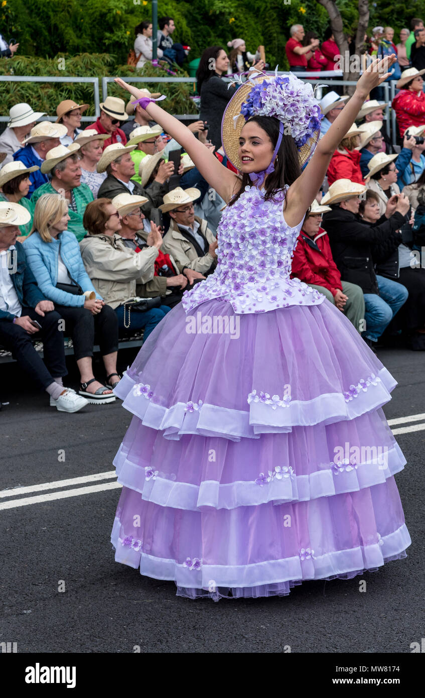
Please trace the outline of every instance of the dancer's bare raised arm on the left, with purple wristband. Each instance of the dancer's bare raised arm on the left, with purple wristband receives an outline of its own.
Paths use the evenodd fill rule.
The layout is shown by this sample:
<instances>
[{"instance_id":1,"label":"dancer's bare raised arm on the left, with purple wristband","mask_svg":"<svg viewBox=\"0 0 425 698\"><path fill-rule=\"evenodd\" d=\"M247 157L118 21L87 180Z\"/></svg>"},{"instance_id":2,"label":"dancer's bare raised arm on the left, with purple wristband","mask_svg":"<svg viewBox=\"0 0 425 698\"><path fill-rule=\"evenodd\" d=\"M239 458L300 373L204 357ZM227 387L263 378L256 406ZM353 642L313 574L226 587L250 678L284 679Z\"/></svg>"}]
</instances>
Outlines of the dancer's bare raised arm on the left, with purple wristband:
<instances>
[{"instance_id":1,"label":"dancer's bare raised arm on the left, with purple wristband","mask_svg":"<svg viewBox=\"0 0 425 698\"><path fill-rule=\"evenodd\" d=\"M146 96L140 89L121 80L121 77L116 77L115 82L128 90L136 99ZM181 124L179 119L172 117L171 114L165 112L155 102L149 102L146 106L146 111L149 117L154 119L160 126L163 127L166 133L170 133L172 138L185 149L186 153L191 157L197 169L202 174L202 177L217 191L217 193L228 202L234 194L235 187L239 179L234 172L225 168L216 156L212 154L208 148L201 143L191 131Z\"/></svg>"}]
</instances>

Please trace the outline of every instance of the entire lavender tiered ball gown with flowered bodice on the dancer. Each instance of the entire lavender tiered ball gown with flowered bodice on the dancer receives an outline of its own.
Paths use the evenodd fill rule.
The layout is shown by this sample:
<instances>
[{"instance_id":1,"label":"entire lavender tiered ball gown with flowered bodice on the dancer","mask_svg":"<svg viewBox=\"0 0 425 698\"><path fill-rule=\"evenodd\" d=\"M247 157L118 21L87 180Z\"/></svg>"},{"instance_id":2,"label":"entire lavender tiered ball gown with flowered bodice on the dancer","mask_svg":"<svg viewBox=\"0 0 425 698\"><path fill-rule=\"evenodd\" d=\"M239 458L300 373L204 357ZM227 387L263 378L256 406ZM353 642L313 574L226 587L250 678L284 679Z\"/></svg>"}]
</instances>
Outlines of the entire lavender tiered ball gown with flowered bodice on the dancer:
<instances>
[{"instance_id":1,"label":"entire lavender tiered ball gown with flowered bodice on the dancer","mask_svg":"<svg viewBox=\"0 0 425 698\"><path fill-rule=\"evenodd\" d=\"M246 187L216 272L151 333L116 394L133 413L114 459L115 560L177 594L287 595L405 558L382 412L396 381L290 265L301 228Z\"/></svg>"}]
</instances>

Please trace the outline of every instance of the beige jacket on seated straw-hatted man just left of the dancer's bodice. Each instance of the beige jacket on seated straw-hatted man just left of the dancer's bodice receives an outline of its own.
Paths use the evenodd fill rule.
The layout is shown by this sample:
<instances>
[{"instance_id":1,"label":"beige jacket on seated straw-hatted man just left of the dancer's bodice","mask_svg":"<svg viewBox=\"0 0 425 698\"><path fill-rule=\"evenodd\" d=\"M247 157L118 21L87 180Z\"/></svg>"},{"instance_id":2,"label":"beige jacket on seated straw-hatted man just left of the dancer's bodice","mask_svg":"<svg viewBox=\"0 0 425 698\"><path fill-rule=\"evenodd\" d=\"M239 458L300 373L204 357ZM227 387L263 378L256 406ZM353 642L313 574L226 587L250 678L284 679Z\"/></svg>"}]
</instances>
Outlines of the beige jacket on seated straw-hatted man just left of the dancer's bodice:
<instances>
[{"instance_id":1,"label":"beige jacket on seated straw-hatted man just left of the dancer's bodice","mask_svg":"<svg viewBox=\"0 0 425 698\"><path fill-rule=\"evenodd\" d=\"M195 221L200 224L200 228L198 228L197 232L200 232L207 238L208 244L216 242L216 237L214 237L214 234L209 230L207 221L197 216L195 216ZM170 228L168 228L167 234L164 235L161 250L165 254L172 255L172 258L177 263L177 267L179 267L180 273L184 267L188 267L195 272L205 274L209 271L211 265L215 267L217 263L216 257L210 255L209 252L202 257L198 257L195 246L193 246L184 235L181 235L174 218L171 219Z\"/></svg>"}]
</instances>

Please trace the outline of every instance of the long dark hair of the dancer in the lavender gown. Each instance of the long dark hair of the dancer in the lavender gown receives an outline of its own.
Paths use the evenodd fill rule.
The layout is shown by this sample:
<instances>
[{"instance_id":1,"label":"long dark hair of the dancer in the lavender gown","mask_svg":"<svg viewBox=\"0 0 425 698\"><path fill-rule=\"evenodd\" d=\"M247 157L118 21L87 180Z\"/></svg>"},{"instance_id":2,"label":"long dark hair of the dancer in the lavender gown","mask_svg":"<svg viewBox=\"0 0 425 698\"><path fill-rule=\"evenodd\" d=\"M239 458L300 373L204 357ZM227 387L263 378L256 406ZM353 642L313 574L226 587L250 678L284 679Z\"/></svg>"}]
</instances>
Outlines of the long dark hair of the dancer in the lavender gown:
<instances>
[{"instance_id":1,"label":"long dark hair of the dancer in the lavender gown","mask_svg":"<svg viewBox=\"0 0 425 698\"><path fill-rule=\"evenodd\" d=\"M273 148L276 147L279 135L279 124L280 121L276 117L251 117L248 121L255 121L263 131L267 133L271 140ZM274 172L268 174L265 181L265 193L264 200L268 201L273 199L274 195L281 191L285 184L291 185L295 179L301 174L301 167L299 165L298 150L295 145L295 141L292 135L286 135L283 133L281 147L278 149L277 163L275 160ZM239 196L244 191L246 186L251 186L252 182L249 174L244 172L241 179L241 187L237 193L235 193L229 202L229 206L232 206ZM285 208L285 205L284 205Z\"/></svg>"}]
</instances>

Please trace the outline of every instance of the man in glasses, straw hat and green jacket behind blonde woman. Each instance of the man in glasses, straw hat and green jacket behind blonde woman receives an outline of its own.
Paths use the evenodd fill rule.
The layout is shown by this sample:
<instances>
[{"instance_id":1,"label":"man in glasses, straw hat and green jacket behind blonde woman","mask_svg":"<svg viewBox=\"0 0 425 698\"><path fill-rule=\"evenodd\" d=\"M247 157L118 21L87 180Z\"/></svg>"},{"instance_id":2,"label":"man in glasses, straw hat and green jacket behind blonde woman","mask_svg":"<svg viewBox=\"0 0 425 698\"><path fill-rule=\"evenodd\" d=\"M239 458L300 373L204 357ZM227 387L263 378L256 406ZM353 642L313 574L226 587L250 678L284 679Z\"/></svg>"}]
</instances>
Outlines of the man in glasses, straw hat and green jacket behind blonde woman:
<instances>
[{"instance_id":1,"label":"man in glasses, straw hat and green jacket behind blonde woman","mask_svg":"<svg viewBox=\"0 0 425 698\"><path fill-rule=\"evenodd\" d=\"M31 198L33 204L36 204L43 194L62 194L69 205L67 230L73 232L78 241L86 234L82 224L84 210L93 201L93 194L87 184L81 184L79 150L77 143L71 143L68 148L64 145L52 148L41 165L42 172L50 172L52 179L39 186Z\"/></svg>"}]
</instances>

